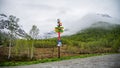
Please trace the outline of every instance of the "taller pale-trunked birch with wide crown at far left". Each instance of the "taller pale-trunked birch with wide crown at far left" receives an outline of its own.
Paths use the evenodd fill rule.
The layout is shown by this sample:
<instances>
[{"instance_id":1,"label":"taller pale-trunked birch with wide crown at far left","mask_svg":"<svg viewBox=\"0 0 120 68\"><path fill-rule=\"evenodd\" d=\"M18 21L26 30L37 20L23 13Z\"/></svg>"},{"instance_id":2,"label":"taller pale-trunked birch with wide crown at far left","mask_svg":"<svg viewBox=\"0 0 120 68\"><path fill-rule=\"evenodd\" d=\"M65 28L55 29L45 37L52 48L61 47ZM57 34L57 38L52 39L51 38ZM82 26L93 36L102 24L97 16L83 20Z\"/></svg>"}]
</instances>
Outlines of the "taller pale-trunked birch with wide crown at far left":
<instances>
[{"instance_id":1,"label":"taller pale-trunked birch with wide crown at far left","mask_svg":"<svg viewBox=\"0 0 120 68\"><path fill-rule=\"evenodd\" d=\"M9 34L9 53L8 53L8 59L11 57L11 46L12 46L12 40L15 38L15 34L19 29L18 21L19 18L16 18L13 15L7 16L5 14L0 14L0 27L1 29L7 29Z\"/></svg>"}]
</instances>

